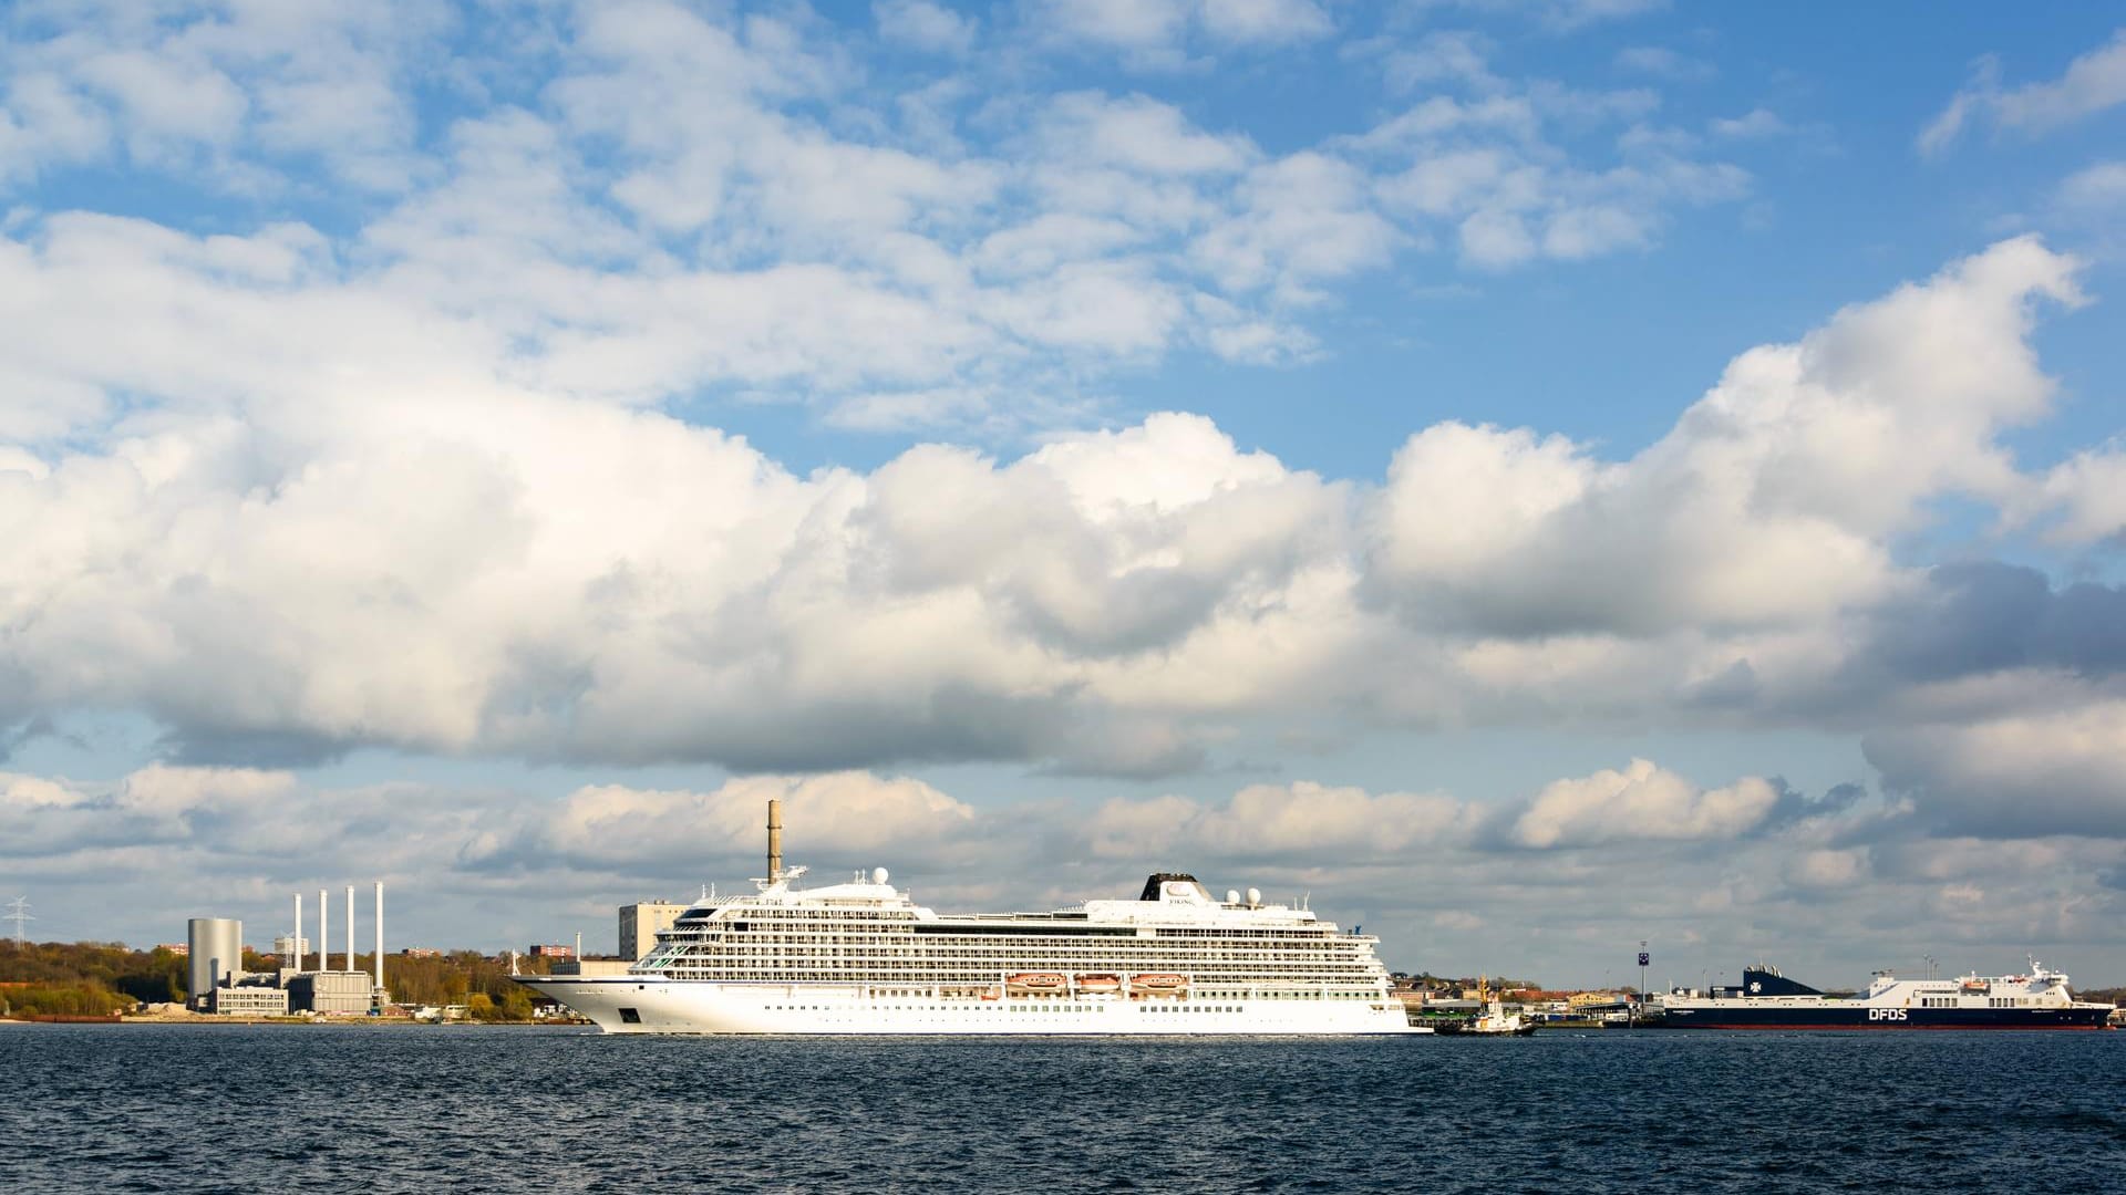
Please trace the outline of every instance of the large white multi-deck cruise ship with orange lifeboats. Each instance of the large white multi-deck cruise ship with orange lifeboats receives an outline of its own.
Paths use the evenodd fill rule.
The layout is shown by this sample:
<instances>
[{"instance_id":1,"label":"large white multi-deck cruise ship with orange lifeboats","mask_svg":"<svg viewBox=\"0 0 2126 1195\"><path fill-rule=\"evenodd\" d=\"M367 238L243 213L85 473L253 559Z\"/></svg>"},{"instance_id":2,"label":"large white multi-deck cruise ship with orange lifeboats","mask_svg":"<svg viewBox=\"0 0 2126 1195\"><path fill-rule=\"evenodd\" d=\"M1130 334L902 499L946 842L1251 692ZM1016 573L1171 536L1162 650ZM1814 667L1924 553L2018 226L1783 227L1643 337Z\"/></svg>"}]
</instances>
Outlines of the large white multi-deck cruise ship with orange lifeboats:
<instances>
[{"instance_id":1,"label":"large white multi-deck cruise ship with orange lifeboats","mask_svg":"<svg viewBox=\"0 0 2126 1195\"><path fill-rule=\"evenodd\" d=\"M887 870L704 897L625 976L523 976L608 1033L1407 1033L1373 953L1252 889L1154 874L1137 899L940 914Z\"/></svg>"}]
</instances>

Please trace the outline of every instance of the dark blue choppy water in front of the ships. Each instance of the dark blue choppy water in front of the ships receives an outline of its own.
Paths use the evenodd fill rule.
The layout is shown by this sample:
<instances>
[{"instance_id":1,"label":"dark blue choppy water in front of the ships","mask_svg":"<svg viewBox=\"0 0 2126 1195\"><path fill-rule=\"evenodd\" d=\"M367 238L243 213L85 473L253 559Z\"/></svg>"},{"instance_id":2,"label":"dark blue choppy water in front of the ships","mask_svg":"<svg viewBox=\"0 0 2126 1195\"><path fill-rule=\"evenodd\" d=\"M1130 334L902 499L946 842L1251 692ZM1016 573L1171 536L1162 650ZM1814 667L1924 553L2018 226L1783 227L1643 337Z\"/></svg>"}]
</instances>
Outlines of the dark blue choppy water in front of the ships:
<instances>
[{"instance_id":1,"label":"dark blue choppy water in front of the ships","mask_svg":"<svg viewBox=\"0 0 2126 1195\"><path fill-rule=\"evenodd\" d=\"M0 1191L2126 1191L2126 1033L0 1029Z\"/></svg>"}]
</instances>

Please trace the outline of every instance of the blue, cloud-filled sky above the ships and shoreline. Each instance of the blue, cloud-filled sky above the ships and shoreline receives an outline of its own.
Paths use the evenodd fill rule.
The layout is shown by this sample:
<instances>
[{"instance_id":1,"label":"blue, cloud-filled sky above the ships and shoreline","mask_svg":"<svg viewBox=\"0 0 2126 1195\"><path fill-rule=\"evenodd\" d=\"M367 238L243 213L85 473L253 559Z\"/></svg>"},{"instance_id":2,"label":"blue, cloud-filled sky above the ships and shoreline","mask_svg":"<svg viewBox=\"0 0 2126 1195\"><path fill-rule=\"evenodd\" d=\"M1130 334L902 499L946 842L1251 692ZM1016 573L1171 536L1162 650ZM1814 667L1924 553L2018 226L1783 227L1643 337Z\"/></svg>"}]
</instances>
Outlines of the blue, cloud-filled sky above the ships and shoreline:
<instances>
[{"instance_id":1,"label":"blue, cloud-filled sky above the ships and shoreline","mask_svg":"<svg viewBox=\"0 0 2126 1195\"><path fill-rule=\"evenodd\" d=\"M2126 982L2122 134L2096 4L17 0L0 897L610 948L780 797Z\"/></svg>"}]
</instances>

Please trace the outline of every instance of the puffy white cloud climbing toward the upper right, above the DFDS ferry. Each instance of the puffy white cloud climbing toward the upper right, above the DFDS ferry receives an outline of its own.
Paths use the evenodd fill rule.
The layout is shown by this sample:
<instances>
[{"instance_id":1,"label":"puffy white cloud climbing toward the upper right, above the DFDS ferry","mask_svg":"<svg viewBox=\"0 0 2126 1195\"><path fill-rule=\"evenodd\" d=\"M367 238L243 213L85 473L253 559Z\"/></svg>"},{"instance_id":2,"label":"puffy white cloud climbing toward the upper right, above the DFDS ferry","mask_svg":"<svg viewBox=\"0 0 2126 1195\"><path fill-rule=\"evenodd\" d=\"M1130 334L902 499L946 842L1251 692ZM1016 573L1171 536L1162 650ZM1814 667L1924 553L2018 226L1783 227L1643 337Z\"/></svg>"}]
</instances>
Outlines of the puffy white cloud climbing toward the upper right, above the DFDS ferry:
<instances>
[{"instance_id":1,"label":"puffy white cloud climbing toward the upper right, above the DFDS ferry","mask_svg":"<svg viewBox=\"0 0 2126 1195\"><path fill-rule=\"evenodd\" d=\"M1924 502L2005 502L2003 427L2045 413L2037 300L2077 262L2001 242L1922 285L1752 349L1656 444L1607 464L1558 436L1444 423L1395 455L1373 510L1378 593L1492 634L1779 625L1899 585L1888 538Z\"/></svg>"}]
</instances>

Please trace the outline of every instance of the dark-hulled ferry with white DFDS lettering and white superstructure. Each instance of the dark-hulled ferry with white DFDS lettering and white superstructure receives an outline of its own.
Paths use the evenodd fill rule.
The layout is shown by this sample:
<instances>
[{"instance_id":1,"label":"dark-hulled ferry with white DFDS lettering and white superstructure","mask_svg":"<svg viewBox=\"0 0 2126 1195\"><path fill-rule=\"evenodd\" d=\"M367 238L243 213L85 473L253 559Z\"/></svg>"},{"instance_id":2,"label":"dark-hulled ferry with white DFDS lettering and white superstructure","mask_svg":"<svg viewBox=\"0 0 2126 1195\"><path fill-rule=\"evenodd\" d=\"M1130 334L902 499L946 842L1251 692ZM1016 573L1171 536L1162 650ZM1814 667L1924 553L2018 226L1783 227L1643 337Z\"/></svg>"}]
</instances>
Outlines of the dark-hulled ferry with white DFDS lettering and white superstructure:
<instances>
[{"instance_id":1,"label":"dark-hulled ferry with white DFDS lettering and white superstructure","mask_svg":"<svg viewBox=\"0 0 2126 1195\"><path fill-rule=\"evenodd\" d=\"M1867 995L1824 995L1777 967L1743 967L1741 982L1711 995L1660 997L1669 1029L2105 1029L2113 1006L2066 991L2066 976L2030 959L2026 976L1901 980L1875 972Z\"/></svg>"}]
</instances>

